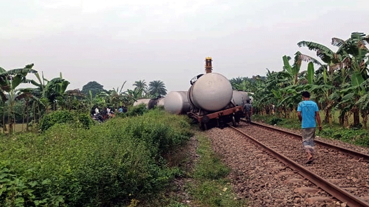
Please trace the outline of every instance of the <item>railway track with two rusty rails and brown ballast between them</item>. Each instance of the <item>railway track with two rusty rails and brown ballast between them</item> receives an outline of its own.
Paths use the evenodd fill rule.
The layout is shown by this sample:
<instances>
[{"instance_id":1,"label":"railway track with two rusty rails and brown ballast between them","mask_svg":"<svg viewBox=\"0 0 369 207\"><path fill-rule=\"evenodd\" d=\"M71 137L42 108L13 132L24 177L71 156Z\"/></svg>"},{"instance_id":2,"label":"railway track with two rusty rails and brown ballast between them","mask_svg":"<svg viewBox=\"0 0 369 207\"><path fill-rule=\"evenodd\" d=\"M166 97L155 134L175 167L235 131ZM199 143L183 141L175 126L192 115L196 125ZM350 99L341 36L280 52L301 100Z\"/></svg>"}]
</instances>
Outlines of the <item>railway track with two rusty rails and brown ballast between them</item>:
<instances>
[{"instance_id":1,"label":"railway track with two rusty rails and brown ballast between them","mask_svg":"<svg viewBox=\"0 0 369 207\"><path fill-rule=\"evenodd\" d=\"M251 130L251 127L253 130ZM260 127L265 131L262 132ZM369 206L369 203L364 200L369 195L369 177L367 176L369 175L369 163L367 162L369 156L367 154L319 141L317 144L322 146L318 149L321 151L319 161L315 161L316 163L311 166L303 166L304 152L301 148L296 147L301 145L300 135L255 123L246 128L230 128L248 137L280 162L338 200L346 202L349 206ZM252 132L256 138L246 134L245 131L247 133ZM259 133L265 133L266 136L260 136L263 137L260 138ZM269 139L266 137L269 137ZM296 137L300 139L296 139ZM329 163L331 157L339 157L341 162ZM335 161L335 159L331 160ZM334 163L343 165L343 167L336 166ZM349 165L345 166L345 164Z\"/></svg>"}]
</instances>

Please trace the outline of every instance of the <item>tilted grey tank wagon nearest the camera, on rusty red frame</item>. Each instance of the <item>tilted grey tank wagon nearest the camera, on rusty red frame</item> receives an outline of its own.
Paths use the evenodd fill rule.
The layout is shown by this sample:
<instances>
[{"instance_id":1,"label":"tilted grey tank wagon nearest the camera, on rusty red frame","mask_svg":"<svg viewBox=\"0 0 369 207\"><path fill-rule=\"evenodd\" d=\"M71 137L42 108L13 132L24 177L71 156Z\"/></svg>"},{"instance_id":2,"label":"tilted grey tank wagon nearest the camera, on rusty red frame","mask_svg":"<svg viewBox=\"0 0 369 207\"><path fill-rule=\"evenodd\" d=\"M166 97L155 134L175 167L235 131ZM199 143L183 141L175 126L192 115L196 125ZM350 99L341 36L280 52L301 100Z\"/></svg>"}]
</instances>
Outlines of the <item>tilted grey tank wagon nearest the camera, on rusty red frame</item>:
<instances>
[{"instance_id":1,"label":"tilted grey tank wagon nearest the camera, on rusty red frame","mask_svg":"<svg viewBox=\"0 0 369 207\"><path fill-rule=\"evenodd\" d=\"M242 94L233 91L230 81L219 73L212 73L212 58L205 59L205 74L194 77L188 89L187 98L191 103L187 115L206 130L232 122L236 126L243 114ZM234 92L236 92L234 94ZM235 96L238 101L235 100Z\"/></svg>"}]
</instances>

